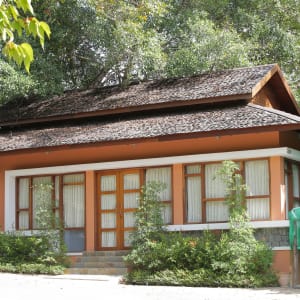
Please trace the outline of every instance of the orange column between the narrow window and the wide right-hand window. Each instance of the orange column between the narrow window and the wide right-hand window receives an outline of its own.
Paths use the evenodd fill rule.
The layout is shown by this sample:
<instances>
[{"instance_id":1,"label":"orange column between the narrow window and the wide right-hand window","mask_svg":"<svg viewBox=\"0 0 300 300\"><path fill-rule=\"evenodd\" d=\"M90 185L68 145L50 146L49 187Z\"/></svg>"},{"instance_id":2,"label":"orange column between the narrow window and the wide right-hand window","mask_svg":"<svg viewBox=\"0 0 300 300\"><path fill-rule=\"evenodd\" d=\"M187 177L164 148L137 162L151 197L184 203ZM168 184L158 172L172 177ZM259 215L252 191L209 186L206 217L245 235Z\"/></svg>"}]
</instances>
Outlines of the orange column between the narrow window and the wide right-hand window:
<instances>
[{"instance_id":1,"label":"orange column between the narrow window and the wide right-hand window","mask_svg":"<svg viewBox=\"0 0 300 300\"><path fill-rule=\"evenodd\" d=\"M173 224L184 223L183 182L182 164L173 165Z\"/></svg>"}]
</instances>

